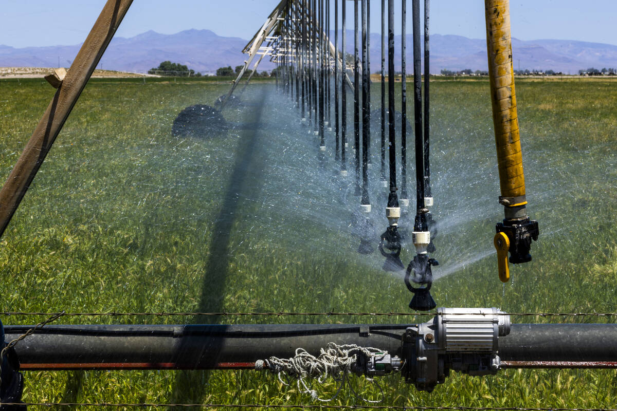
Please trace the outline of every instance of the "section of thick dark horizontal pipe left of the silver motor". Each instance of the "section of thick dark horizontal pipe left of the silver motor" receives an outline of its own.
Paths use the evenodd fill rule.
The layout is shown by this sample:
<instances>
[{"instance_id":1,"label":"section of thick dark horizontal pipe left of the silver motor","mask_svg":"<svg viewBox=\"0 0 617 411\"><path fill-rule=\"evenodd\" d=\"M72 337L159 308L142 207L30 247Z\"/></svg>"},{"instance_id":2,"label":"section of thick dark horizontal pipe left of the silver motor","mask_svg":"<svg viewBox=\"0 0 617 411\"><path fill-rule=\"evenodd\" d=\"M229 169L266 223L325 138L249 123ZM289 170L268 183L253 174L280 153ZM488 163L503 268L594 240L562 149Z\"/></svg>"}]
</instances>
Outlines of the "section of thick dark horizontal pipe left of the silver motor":
<instances>
[{"instance_id":1,"label":"section of thick dark horizontal pipe left of the silver motor","mask_svg":"<svg viewBox=\"0 0 617 411\"><path fill-rule=\"evenodd\" d=\"M405 325L47 325L15 346L23 369L228 367L328 343L400 349ZM32 327L5 327L10 341ZM99 364L99 365L97 365ZM38 365L38 367L36 367ZM124 366L122 366L124 365Z\"/></svg>"}]
</instances>

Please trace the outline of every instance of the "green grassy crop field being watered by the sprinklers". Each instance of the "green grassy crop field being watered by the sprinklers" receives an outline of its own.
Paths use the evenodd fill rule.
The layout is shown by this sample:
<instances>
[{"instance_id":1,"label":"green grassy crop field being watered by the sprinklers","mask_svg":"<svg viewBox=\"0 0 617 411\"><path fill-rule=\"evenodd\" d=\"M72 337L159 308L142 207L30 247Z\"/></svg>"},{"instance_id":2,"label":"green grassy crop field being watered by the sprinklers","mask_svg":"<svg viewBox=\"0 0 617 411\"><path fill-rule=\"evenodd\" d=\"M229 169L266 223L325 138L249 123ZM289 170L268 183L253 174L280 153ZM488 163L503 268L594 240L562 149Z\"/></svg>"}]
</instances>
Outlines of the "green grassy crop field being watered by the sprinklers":
<instances>
[{"instance_id":1,"label":"green grassy crop field being watered by the sprinklers","mask_svg":"<svg viewBox=\"0 0 617 411\"><path fill-rule=\"evenodd\" d=\"M617 83L519 81L528 211L540 224L533 261L497 277L494 224L502 218L487 81L433 83L433 213L441 262L439 306L508 312L616 312ZM317 137L273 84L255 84L219 136L178 139L175 116L212 104L227 84L97 79L56 140L1 239L4 312L400 312L410 293L360 256L350 224L359 199L341 180L334 137ZM378 85L373 86L378 107ZM54 90L0 80L0 175L10 169ZM411 96L411 93L408 93ZM261 115L260 115L261 113ZM413 115L413 104L408 102ZM351 115L348 116L352 118ZM413 124L413 118L410 118ZM378 176L378 131L371 177ZM351 136L352 134L349 133ZM409 142L413 147L413 142ZM413 164L413 150L408 160ZM351 164L351 163L350 163ZM351 165L349 166L351 168ZM415 192L413 169L409 191ZM350 173L352 176L353 173ZM376 185L376 184L375 184ZM413 197L413 196L412 196ZM376 231L383 192L371 191ZM413 215L407 220L413 221ZM403 222L402 222L403 224ZM412 246L413 248L413 246ZM407 245L405 264L413 253ZM3 315L7 325L44 317ZM398 322L426 317L64 317L63 324ZM614 322L615 317L513 317L513 322ZM25 372L24 401L313 404L257 372ZM357 393L378 399L365 378ZM381 378L381 405L614 407L612 370L453 373L431 393ZM323 397L336 392L329 381ZM366 405L349 389L331 404Z\"/></svg>"}]
</instances>

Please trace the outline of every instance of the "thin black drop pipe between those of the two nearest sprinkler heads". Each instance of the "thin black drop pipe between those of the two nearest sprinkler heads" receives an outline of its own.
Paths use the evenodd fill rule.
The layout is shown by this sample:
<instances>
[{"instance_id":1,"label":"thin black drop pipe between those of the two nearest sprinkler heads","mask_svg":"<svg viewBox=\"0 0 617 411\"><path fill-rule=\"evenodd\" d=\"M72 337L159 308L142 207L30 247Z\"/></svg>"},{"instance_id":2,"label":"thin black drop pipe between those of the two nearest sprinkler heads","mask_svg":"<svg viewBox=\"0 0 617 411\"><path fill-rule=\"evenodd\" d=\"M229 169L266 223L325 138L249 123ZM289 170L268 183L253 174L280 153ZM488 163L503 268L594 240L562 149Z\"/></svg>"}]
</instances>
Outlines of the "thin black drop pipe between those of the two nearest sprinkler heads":
<instances>
[{"instance_id":1,"label":"thin black drop pipe between those of the two nearest sprinkler heads","mask_svg":"<svg viewBox=\"0 0 617 411\"><path fill-rule=\"evenodd\" d=\"M407 0L401 1L400 17L400 197L407 200Z\"/></svg>"}]
</instances>

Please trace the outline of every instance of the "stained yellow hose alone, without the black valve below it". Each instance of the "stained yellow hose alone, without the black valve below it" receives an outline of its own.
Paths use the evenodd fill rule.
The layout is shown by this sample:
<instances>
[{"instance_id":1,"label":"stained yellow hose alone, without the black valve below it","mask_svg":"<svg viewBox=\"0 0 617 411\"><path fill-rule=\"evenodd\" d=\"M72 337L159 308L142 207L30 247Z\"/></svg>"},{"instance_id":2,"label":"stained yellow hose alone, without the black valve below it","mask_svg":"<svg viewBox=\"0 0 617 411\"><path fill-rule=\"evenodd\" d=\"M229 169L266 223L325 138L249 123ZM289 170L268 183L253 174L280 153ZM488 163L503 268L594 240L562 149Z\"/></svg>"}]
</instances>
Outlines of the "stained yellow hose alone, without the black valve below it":
<instances>
[{"instance_id":1,"label":"stained yellow hose alone, without the black valve below it","mask_svg":"<svg viewBox=\"0 0 617 411\"><path fill-rule=\"evenodd\" d=\"M520 207L526 205L527 201L516 113L510 5L509 0L485 0L484 6L502 204L507 208Z\"/></svg>"}]
</instances>

